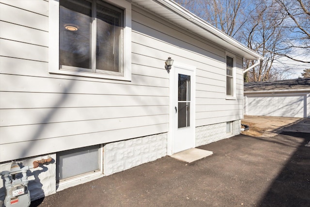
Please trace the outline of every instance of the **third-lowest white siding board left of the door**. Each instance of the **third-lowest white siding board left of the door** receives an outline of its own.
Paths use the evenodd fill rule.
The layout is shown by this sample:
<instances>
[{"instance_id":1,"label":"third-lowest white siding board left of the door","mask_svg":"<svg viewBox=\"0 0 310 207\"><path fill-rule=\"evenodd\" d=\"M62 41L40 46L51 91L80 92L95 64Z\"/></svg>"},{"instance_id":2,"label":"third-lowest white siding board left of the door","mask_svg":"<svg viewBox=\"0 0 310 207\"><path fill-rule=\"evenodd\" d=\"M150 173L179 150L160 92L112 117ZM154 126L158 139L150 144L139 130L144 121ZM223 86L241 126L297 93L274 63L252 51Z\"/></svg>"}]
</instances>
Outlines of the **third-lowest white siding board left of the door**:
<instances>
[{"instance_id":1,"label":"third-lowest white siding board left of the door","mask_svg":"<svg viewBox=\"0 0 310 207\"><path fill-rule=\"evenodd\" d=\"M1 127L38 125L84 120L116 119L166 114L168 106L124 106L124 107L84 107L84 108L2 109ZM78 113L77 113L78 111ZM47 112L52 114L46 117ZM14 125L13 125L14 124Z\"/></svg>"}]
</instances>

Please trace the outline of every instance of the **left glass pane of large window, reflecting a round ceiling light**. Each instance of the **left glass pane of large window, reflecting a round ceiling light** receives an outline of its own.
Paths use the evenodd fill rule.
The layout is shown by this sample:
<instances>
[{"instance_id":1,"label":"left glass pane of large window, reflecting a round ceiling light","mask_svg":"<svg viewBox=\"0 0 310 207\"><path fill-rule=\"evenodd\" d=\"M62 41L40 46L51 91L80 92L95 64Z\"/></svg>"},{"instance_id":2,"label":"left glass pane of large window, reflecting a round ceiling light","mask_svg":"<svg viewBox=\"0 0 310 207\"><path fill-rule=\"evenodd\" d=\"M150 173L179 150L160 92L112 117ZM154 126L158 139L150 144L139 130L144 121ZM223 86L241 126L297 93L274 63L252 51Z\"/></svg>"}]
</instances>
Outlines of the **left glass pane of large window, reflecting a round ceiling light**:
<instances>
[{"instance_id":1,"label":"left glass pane of large window, reflecting a round ceiling light","mask_svg":"<svg viewBox=\"0 0 310 207\"><path fill-rule=\"evenodd\" d=\"M60 65L91 69L92 3L61 0Z\"/></svg>"}]
</instances>

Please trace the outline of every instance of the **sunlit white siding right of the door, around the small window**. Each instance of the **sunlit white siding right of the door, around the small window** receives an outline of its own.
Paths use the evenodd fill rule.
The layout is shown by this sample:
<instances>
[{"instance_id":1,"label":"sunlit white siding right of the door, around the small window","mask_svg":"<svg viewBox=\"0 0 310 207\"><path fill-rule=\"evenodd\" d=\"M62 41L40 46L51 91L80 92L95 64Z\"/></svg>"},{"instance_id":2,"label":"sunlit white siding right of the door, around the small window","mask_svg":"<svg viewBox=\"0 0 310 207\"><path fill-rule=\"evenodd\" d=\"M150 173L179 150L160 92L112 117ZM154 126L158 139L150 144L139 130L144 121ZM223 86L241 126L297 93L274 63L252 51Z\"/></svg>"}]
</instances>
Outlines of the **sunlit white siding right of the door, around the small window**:
<instances>
[{"instance_id":1,"label":"sunlit white siding right of the door, around the small window","mask_svg":"<svg viewBox=\"0 0 310 207\"><path fill-rule=\"evenodd\" d=\"M224 60L223 60L224 61ZM218 75L197 78L196 126L205 126L227 121L240 120L243 109L243 73L242 59L236 58L236 99L225 99L225 64L216 68ZM198 69L197 74L204 73ZM217 78L214 80L214 78Z\"/></svg>"}]
</instances>

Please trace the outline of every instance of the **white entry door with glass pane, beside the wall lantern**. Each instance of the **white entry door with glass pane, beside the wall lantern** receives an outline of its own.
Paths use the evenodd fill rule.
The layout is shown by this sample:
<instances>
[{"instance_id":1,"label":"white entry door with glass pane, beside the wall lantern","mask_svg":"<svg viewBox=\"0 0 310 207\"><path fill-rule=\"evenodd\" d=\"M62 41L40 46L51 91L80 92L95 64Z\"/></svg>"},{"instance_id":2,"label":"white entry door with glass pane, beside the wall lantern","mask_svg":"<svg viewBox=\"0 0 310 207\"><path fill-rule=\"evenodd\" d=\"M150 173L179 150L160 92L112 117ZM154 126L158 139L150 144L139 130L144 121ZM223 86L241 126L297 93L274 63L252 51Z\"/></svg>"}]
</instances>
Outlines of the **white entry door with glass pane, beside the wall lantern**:
<instances>
[{"instance_id":1,"label":"white entry door with glass pane, beside the wall lantern","mask_svg":"<svg viewBox=\"0 0 310 207\"><path fill-rule=\"evenodd\" d=\"M171 154L195 147L195 69L175 64L171 71Z\"/></svg>"}]
</instances>

